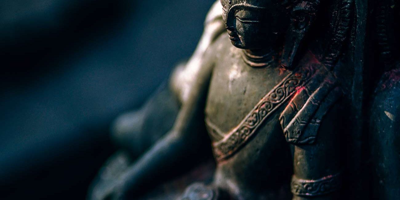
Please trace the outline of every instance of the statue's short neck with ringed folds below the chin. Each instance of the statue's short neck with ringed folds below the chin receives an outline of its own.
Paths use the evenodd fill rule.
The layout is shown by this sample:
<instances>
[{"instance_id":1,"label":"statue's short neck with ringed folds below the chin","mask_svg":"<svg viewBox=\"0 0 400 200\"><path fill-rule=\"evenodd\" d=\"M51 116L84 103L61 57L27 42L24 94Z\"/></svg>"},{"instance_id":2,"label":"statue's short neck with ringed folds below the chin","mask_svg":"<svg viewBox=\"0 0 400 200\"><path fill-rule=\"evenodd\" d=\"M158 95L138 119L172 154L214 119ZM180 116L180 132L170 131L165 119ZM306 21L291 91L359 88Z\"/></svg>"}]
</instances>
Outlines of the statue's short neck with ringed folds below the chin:
<instances>
[{"instance_id":1,"label":"statue's short neck with ringed folds below the chin","mask_svg":"<svg viewBox=\"0 0 400 200\"><path fill-rule=\"evenodd\" d=\"M272 49L243 50L242 58L251 67L270 66L276 60Z\"/></svg>"}]
</instances>

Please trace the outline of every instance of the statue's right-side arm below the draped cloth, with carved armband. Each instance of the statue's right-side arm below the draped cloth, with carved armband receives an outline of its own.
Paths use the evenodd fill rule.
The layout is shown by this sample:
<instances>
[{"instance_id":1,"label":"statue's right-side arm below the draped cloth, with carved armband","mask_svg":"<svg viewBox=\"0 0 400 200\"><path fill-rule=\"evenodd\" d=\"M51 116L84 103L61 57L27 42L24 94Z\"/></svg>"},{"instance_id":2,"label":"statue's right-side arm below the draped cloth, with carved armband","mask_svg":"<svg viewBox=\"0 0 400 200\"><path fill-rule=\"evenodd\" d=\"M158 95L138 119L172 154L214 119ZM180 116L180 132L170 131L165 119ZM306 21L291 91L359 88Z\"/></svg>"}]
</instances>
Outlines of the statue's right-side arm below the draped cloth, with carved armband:
<instances>
[{"instance_id":1,"label":"statue's right-side arm below the draped cloth, with carved armband","mask_svg":"<svg viewBox=\"0 0 400 200\"><path fill-rule=\"evenodd\" d=\"M338 199L340 188L340 106L330 108L313 144L294 144L294 200Z\"/></svg>"}]
</instances>

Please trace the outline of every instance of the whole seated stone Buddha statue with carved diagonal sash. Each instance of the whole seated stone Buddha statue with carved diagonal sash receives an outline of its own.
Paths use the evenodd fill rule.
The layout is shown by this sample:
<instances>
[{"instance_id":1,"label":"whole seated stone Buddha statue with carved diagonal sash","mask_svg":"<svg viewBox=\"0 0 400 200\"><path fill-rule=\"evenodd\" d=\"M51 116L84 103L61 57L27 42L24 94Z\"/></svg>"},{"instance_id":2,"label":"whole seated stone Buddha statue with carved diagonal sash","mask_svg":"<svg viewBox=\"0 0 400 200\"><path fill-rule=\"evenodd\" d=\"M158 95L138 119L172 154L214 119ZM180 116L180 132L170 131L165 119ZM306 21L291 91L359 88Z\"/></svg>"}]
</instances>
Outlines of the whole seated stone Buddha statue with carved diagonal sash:
<instances>
[{"instance_id":1,"label":"whole seated stone Buddha statue with carved diagonal sash","mask_svg":"<svg viewBox=\"0 0 400 200\"><path fill-rule=\"evenodd\" d=\"M208 43L186 89L185 76L173 76L172 90L184 95L172 128L101 198L138 199L210 146L212 180L189 185L182 200L340 198L340 142L349 128L336 63L352 0L221 5L227 34Z\"/></svg>"}]
</instances>

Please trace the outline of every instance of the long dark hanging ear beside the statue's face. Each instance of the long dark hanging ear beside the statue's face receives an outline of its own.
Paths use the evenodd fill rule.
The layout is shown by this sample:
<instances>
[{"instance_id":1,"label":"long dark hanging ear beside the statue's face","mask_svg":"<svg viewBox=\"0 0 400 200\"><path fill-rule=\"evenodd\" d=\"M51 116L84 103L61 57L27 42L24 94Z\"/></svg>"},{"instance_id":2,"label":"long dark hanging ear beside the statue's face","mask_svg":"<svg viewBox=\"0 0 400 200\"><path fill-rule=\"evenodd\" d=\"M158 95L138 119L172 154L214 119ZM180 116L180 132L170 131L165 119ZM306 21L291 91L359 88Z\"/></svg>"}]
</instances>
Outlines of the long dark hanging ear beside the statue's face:
<instances>
[{"instance_id":1,"label":"long dark hanging ear beside the statue's face","mask_svg":"<svg viewBox=\"0 0 400 200\"><path fill-rule=\"evenodd\" d=\"M293 60L296 56L297 50L314 21L318 5L319 0L314 0L314 2L302 1L292 8L291 24L286 33L285 44L281 56L282 67L286 69L293 67Z\"/></svg>"}]
</instances>

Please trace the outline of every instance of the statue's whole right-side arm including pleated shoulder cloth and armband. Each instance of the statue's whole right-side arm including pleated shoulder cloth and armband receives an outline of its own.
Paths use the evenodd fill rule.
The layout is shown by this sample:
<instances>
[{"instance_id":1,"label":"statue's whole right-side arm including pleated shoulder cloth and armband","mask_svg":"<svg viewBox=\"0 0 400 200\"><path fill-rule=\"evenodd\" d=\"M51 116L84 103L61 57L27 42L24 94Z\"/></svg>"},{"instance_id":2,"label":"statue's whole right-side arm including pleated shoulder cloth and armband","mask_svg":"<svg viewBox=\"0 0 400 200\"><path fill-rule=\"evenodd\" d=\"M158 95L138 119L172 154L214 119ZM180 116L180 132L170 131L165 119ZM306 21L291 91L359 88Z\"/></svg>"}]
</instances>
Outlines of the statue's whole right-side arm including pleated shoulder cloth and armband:
<instances>
[{"instance_id":1,"label":"statue's whole right-side arm including pleated shoulder cloth and armband","mask_svg":"<svg viewBox=\"0 0 400 200\"><path fill-rule=\"evenodd\" d=\"M346 132L342 94L334 74L320 66L280 115L286 141L292 145L294 200L338 199L339 137Z\"/></svg>"}]
</instances>

